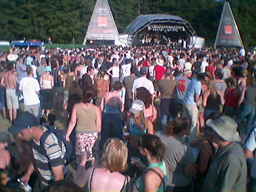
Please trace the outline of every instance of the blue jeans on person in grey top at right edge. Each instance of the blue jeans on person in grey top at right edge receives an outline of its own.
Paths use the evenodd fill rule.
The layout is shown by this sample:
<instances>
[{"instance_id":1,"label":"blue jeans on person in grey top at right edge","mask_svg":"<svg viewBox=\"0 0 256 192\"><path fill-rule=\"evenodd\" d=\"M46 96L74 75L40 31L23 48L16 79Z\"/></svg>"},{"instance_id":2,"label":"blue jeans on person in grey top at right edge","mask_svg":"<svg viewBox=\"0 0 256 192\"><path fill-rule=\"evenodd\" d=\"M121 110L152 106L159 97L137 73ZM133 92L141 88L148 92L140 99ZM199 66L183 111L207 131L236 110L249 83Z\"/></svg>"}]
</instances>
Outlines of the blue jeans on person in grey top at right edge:
<instances>
[{"instance_id":1,"label":"blue jeans on person in grey top at right edge","mask_svg":"<svg viewBox=\"0 0 256 192\"><path fill-rule=\"evenodd\" d=\"M246 122L246 130L245 134L248 134L252 128L252 120L255 115L255 106L243 105L240 111L238 112L238 116L236 116L236 122L238 124L238 131L241 132L240 122L247 118Z\"/></svg>"}]
</instances>

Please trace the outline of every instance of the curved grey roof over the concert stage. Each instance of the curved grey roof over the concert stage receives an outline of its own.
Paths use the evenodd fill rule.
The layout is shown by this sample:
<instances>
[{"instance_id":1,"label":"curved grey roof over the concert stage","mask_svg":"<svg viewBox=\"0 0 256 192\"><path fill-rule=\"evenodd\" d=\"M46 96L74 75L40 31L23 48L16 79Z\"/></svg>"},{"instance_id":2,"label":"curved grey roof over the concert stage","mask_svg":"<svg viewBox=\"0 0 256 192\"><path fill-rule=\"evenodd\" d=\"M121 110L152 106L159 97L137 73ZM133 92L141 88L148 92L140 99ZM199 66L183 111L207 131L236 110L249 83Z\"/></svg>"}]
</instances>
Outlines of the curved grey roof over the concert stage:
<instances>
[{"instance_id":1,"label":"curved grey roof over the concert stage","mask_svg":"<svg viewBox=\"0 0 256 192\"><path fill-rule=\"evenodd\" d=\"M124 34L133 35L136 30L144 26L148 22L161 20L166 22L170 22L171 20L176 22L186 22L179 16L174 15L165 15L165 14L156 14L156 15L141 15L138 16L127 28L124 30Z\"/></svg>"}]
</instances>

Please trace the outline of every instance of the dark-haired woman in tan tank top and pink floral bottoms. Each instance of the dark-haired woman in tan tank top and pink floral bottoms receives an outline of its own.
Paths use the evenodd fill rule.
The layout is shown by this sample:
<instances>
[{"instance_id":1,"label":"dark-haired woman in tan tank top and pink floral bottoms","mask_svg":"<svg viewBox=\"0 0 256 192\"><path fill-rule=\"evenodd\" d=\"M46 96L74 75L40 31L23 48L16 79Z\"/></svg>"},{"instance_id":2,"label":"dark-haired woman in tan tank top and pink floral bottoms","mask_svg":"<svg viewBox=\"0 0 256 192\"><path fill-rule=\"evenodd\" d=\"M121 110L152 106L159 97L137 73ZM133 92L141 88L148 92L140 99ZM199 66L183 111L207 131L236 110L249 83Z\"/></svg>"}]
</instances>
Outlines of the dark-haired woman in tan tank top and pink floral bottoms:
<instances>
[{"instance_id":1,"label":"dark-haired woman in tan tank top and pink floral bottoms","mask_svg":"<svg viewBox=\"0 0 256 192\"><path fill-rule=\"evenodd\" d=\"M76 162L80 163L84 151L90 153L88 160L92 166L98 160L98 148L101 134L101 112L100 107L91 103L95 96L95 90L88 86L83 91L84 100L74 104L70 123L66 133L66 140L70 141L70 134L76 125Z\"/></svg>"}]
</instances>

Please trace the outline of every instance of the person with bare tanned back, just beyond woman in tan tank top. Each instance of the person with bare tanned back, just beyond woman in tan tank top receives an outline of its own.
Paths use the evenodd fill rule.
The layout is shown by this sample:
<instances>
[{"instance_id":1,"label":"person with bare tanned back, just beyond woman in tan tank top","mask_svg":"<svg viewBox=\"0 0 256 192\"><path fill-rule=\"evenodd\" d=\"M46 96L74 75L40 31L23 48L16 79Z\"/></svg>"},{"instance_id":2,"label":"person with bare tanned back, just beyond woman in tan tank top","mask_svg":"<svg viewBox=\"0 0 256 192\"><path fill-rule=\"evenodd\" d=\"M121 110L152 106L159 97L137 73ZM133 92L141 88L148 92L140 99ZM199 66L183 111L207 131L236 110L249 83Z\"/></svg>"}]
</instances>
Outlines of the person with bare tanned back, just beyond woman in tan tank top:
<instances>
[{"instance_id":1,"label":"person with bare tanned back, just beyond woman in tan tank top","mask_svg":"<svg viewBox=\"0 0 256 192\"><path fill-rule=\"evenodd\" d=\"M100 106L101 99L103 95L109 91L109 83L104 80L105 73L103 71L99 72L99 78L95 80L95 88L97 90L97 97L95 100L95 105Z\"/></svg>"}]
</instances>

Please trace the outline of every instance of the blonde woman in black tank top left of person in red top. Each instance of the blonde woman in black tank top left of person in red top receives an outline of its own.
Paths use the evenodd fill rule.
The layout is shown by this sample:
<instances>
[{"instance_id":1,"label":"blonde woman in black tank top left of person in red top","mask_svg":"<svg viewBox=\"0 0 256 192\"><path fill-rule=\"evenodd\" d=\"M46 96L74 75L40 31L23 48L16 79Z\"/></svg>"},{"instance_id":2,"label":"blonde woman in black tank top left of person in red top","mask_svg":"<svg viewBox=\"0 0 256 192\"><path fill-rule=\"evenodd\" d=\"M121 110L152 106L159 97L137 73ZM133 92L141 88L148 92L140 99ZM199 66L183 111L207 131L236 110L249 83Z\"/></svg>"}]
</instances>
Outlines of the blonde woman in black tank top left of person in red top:
<instances>
[{"instance_id":1,"label":"blonde woman in black tank top left of person in red top","mask_svg":"<svg viewBox=\"0 0 256 192\"><path fill-rule=\"evenodd\" d=\"M212 112L220 111L220 104L225 104L224 94L216 89L214 79L210 79L208 90L203 94L204 118L206 119Z\"/></svg>"}]
</instances>

